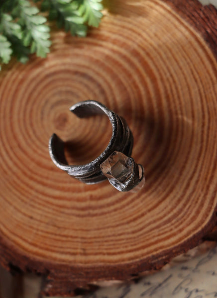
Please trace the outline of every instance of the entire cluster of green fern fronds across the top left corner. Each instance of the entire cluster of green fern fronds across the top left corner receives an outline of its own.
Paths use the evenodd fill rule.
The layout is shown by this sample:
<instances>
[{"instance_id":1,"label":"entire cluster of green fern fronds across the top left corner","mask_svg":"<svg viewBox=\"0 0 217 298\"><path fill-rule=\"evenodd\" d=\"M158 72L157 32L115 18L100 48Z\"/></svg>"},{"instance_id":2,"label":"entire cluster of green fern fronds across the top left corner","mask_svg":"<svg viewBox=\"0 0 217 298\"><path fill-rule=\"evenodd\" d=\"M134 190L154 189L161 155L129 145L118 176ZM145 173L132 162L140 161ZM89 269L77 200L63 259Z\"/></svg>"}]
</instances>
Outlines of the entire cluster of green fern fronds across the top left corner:
<instances>
[{"instance_id":1,"label":"entire cluster of green fern fronds across the top left corner","mask_svg":"<svg viewBox=\"0 0 217 298\"><path fill-rule=\"evenodd\" d=\"M51 45L47 17L72 35L84 37L88 26L98 27L102 0L0 0L0 64L11 56L25 63L29 53L46 57Z\"/></svg>"}]
</instances>

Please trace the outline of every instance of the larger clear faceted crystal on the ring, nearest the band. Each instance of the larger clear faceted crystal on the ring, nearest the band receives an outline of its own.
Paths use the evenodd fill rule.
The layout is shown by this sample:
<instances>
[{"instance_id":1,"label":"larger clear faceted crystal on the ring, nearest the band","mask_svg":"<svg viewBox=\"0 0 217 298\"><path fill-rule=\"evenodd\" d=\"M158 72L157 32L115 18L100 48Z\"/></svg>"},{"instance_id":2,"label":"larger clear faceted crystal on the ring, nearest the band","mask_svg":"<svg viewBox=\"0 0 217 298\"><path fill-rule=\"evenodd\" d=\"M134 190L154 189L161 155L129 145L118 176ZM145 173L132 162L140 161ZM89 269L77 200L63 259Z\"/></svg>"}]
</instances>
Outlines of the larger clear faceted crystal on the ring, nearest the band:
<instances>
[{"instance_id":1,"label":"larger clear faceted crystal on the ring, nearest the band","mask_svg":"<svg viewBox=\"0 0 217 298\"><path fill-rule=\"evenodd\" d=\"M101 170L109 179L116 179L119 183L124 183L132 175L133 164L130 157L114 151L101 164Z\"/></svg>"}]
</instances>

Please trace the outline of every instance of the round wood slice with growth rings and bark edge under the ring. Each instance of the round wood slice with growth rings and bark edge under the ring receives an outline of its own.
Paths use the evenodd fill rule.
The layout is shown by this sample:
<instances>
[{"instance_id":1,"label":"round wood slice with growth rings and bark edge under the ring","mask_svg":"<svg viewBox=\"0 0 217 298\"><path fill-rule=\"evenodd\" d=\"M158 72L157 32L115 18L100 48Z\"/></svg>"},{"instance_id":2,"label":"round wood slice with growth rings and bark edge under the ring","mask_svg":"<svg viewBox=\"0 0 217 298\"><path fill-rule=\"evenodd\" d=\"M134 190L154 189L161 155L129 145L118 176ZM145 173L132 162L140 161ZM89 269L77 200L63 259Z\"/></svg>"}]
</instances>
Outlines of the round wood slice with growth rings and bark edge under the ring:
<instances>
[{"instance_id":1,"label":"round wood slice with growth rings and bark edge under the ring","mask_svg":"<svg viewBox=\"0 0 217 298\"><path fill-rule=\"evenodd\" d=\"M159 269L216 224L217 13L178 2L109 1L89 37L55 33L47 59L1 73L0 263L47 274L46 295ZM139 192L83 184L51 161L52 133L73 164L108 145L106 117L69 112L87 99L126 119Z\"/></svg>"}]
</instances>

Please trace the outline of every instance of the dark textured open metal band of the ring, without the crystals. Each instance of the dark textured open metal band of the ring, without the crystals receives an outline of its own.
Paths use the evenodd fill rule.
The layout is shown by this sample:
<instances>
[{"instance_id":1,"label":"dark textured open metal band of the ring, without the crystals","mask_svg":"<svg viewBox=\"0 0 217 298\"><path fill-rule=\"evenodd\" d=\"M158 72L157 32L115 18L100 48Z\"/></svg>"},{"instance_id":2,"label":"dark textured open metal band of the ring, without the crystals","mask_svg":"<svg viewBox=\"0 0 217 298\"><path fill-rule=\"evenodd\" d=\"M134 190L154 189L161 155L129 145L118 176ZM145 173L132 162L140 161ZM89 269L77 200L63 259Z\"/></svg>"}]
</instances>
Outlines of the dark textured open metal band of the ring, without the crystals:
<instances>
[{"instance_id":1,"label":"dark textured open metal band of the ring, without the crystals","mask_svg":"<svg viewBox=\"0 0 217 298\"><path fill-rule=\"evenodd\" d=\"M49 141L50 156L57 167L80 181L87 184L101 182L107 179L107 177L102 173L100 165L111 153L119 151L127 156L131 155L133 146L132 133L122 117L118 116L98 101L87 100L76 103L70 108L70 111L79 118L106 114L112 126L112 136L108 146L100 156L89 163L84 165L69 165L64 154L64 142L56 134L53 134ZM138 166L135 164L135 173L129 182L129 186L121 191L127 191L133 188L134 184L138 183L138 178L135 178L138 176L137 172Z\"/></svg>"}]
</instances>

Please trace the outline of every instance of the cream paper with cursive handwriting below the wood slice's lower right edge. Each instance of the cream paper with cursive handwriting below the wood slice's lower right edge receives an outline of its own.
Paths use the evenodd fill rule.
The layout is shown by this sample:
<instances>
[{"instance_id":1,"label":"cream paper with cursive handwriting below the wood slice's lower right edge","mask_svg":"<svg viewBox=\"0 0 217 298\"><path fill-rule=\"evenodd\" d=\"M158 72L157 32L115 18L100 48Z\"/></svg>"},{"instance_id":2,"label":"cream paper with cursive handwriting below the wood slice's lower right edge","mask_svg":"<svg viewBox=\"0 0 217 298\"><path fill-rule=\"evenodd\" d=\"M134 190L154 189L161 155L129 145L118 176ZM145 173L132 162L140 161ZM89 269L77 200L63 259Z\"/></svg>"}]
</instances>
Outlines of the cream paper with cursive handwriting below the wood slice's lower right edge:
<instances>
[{"instance_id":1,"label":"cream paper with cursive handwriting below the wood slice's lower right edge","mask_svg":"<svg viewBox=\"0 0 217 298\"><path fill-rule=\"evenodd\" d=\"M137 284L102 288L84 298L214 298L217 297L217 246Z\"/></svg>"}]
</instances>

